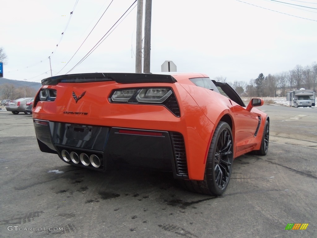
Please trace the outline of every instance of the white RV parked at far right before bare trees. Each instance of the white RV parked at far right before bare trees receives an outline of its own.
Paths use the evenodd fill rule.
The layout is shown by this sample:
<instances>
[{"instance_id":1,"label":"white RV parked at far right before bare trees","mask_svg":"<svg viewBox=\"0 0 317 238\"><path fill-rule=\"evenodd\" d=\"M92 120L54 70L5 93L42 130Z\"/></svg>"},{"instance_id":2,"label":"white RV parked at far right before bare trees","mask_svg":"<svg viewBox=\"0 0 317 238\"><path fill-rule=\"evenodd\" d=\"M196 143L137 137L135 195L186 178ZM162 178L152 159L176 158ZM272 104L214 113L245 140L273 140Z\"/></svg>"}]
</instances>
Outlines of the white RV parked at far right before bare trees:
<instances>
[{"instance_id":1,"label":"white RV parked at far right before bare trees","mask_svg":"<svg viewBox=\"0 0 317 238\"><path fill-rule=\"evenodd\" d=\"M310 89L299 89L287 92L286 100L291 107L314 107L315 91Z\"/></svg>"}]
</instances>

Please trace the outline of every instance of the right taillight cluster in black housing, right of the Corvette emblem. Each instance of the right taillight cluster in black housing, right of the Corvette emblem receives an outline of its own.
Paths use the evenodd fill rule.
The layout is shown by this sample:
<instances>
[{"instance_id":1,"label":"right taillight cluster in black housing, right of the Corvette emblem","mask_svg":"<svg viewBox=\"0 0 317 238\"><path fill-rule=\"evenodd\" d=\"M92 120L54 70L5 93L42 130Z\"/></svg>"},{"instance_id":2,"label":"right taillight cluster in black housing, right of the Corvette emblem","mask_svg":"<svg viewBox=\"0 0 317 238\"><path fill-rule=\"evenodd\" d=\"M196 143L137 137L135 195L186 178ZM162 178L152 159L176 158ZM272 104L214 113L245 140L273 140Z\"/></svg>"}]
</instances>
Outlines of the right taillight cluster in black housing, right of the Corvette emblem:
<instances>
[{"instance_id":1,"label":"right taillight cluster in black housing, right of the Corvette emblem","mask_svg":"<svg viewBox=\"0 0 317 238\"><path fill-rule=\"evenodd\" d=\"M160 104L175 116L180 116L178 102L171 88L116 89L109 96L110 103Z\"/></svg>"}]
</instances>

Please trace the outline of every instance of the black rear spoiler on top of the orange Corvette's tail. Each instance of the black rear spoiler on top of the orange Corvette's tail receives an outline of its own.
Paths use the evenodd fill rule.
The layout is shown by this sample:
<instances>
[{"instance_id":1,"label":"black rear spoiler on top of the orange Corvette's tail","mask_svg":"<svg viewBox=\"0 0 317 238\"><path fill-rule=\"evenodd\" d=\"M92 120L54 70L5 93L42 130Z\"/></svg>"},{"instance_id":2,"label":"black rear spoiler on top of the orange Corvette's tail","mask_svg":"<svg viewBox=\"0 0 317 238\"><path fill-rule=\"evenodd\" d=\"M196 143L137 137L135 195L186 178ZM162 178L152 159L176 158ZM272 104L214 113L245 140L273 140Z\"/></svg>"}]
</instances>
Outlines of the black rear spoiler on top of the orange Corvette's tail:
<instances>
[{"instance_id":1,"label":"black rear spoiler on top of the orange Corvette's tail","mask_svg":"<svg viewBox=\"0 0 317 238\"><path fill-rule=\"evenodd\" d=\"M42 80L42 85L58 83L90 83L115 81L117 83L176 83L171 75L136 73L85 73L53 76Z\"/></svg>"}]
</instances>

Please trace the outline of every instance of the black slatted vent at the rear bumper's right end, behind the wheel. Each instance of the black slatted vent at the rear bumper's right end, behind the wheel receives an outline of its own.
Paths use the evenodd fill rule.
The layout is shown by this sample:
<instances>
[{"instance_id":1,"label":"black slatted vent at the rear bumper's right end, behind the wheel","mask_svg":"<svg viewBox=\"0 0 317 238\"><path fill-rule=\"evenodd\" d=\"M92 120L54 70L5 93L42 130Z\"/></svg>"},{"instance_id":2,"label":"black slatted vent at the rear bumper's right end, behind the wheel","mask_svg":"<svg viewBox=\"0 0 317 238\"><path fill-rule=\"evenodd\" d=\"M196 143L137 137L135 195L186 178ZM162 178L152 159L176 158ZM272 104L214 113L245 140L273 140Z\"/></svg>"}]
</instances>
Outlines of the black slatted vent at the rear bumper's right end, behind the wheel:
<instances>
[{"instance_id":1,"label":"black slatted vent at the rear bumper's right end, behind the wheel","mask_svg":"<svg viewBox=\"0 0 317 238\"><path fill-rule=\"evenodd\" d=\"M178 175L188 176L184 137L178 132L171 132L171 140L173 144L176 172Z\"/></svg>"}]
</instances>

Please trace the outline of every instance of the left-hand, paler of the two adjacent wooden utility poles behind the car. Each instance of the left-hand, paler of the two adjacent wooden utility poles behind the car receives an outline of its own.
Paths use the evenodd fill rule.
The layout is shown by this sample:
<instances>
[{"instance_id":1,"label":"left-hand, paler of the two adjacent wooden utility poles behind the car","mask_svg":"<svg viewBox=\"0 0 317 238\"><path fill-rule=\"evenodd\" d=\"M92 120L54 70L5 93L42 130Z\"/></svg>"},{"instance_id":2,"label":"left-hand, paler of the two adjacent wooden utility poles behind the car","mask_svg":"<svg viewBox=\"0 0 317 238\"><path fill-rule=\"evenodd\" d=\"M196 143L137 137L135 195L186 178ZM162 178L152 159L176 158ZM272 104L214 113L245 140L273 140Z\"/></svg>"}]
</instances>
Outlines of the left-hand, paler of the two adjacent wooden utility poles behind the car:
<instances>
[{"instance_id":1,"label":"left-hand, paler of the two adjacent wooden utility poles behind the car","mask_svg":"<svg viewBox=\"0 0 317 238\"><path fill-rule=\"evenodd\" d=\"M137 10L137 40L135 52L135 72L142 73L142 18L143 18L143 0L138 0Z\"/></svg>"}]
</instances>

